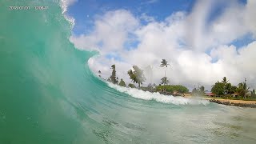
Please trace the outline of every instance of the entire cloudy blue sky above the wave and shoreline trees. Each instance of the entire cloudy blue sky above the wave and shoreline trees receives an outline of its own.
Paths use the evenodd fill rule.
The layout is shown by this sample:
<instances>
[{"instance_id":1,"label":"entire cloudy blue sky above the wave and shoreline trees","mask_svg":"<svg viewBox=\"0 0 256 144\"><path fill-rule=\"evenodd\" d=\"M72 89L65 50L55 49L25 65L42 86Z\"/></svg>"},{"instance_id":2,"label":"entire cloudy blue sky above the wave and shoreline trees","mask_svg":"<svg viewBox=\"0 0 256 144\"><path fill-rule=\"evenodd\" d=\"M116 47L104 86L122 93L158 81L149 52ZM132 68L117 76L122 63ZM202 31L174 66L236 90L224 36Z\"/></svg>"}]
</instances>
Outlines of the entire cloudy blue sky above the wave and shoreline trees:
<instances>
[{"instance_id":1,"label":"entire cloudy blue sky above the wave and shoreline trees","mask_svg":"<svg viewBox=\"0 0 256 144\"><path fill-rule=\"evenodd\" d=\"M254 0L63 0L74 18L70 42L98 50L88 64L102 77L116 65L118 78L137 65L146 82L205 86L223 77L237 86L244 78L256 88L256 1Z\"/></svg>"}]
</instances>

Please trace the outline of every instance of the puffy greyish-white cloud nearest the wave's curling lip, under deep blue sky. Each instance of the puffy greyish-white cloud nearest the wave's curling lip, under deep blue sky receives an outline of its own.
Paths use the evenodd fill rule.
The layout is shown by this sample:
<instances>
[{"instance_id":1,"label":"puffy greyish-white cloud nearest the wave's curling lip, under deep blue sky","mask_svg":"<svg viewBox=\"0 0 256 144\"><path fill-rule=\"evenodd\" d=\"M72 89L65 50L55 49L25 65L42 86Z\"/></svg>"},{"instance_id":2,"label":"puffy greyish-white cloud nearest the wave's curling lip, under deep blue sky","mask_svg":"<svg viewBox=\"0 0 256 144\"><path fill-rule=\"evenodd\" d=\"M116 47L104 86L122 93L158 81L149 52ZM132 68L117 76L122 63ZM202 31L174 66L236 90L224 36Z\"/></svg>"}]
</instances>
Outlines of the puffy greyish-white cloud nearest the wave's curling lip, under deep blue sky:
<instances>
[{"instance_id":1,"label":"puffy greyish-white cloud nearest the wave's curling lip, under deep blue sky","mask_svg":"<svg viewBox=\"0 0 256 144\"><path fill-rule=\"evenodd\" d=\"M138 24L138 19L127 10L109 11L96 18L90 35L71 36L70 41L79 49L96 49L102 54L117 52L124 48Z\"/></svg>"}]
</instances>

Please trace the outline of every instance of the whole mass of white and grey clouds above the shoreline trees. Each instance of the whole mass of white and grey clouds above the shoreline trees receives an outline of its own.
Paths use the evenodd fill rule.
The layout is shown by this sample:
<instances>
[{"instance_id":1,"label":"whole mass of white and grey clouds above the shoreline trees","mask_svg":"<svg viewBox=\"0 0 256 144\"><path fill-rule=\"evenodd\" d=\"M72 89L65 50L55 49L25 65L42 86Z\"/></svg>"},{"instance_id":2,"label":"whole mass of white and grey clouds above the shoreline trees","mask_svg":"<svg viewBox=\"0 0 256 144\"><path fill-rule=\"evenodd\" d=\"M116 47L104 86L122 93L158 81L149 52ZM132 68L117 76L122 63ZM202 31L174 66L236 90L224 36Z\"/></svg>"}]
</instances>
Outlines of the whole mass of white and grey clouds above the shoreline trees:
<instances>
[{"instance_id":1,"label":"whole mass of white and grey clouds above the shoreline trees","mask_svg":"<svg viewBox=\"0 0 256 144\"><path fill-rule=\"evenodd\" d=\"M117 75L130 82L127 70L133 65L146 72L146 83L160 82L164 69L162 58L170 62L166 76L171 84L210 86L224 76L233 84L247 78L250 86L256 82L256 41L243 47L231 45L246 34L256 34L254 1L242 5L230 1L209 22L216 1L198 1L190 14L178 11L164 21L142 14L136 17L129 10L108 11L94 19L90 34L73 35L70 41L78 49L98 50L98 57L90 58L95 73L110 76L110 66L116 65ZM142 25L141 21L146 21Z\"/></svg>"}]
</instances>

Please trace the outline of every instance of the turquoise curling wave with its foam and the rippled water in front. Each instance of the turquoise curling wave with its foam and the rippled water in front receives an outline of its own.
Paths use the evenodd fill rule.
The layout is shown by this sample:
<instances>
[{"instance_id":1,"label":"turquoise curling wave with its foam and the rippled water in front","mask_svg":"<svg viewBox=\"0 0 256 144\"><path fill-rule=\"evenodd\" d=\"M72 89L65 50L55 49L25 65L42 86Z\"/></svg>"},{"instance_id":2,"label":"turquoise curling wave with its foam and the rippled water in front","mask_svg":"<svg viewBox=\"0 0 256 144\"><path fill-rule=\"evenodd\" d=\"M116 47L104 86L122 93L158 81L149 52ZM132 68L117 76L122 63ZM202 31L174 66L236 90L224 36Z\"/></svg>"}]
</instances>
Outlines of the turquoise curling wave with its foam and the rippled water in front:
<instances>
[{"instance_id":1,"label":"turquoise curling wave with its foam and the rippled water in front","mask_svg":"<svg viewBox=\"0 0 256 144\"><path fill-rule=\"evenodd\" d=\"M256 142L254 109L150 94L95 77L87 61L96 53L69 42L71 24L59 2L0 6L0 143Z\"/></svg>"}]
</instances>

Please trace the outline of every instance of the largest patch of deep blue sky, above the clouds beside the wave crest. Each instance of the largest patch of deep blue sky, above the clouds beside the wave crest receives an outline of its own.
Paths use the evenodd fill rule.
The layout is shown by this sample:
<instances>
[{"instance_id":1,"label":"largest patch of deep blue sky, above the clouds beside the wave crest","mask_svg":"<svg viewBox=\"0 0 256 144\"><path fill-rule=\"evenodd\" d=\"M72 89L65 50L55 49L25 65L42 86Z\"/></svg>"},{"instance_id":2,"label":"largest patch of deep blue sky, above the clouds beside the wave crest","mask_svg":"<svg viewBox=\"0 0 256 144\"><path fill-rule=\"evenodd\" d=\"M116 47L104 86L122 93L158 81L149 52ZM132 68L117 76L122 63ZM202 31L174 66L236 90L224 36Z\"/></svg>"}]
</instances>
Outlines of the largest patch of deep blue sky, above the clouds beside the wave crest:
<instances>
[{"instance_id":1,"label":"largest patch of deep blue sky, above the clouds beside the wave crest","mask_svg":"<svg viewBox=\"0 0 256 144\"><path fill-rule=\"evenodd\" d=\"M145 13L157 21L162 21L174 12L189 12L193 4L194 0L78 0L69 7L68 13L76 20L74 34L83 34L90 32L95 15L109 10L125 9L138 17Z\"/></svg>"}]
</instances>

